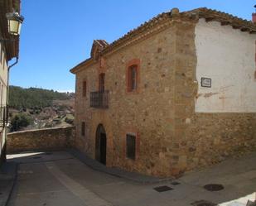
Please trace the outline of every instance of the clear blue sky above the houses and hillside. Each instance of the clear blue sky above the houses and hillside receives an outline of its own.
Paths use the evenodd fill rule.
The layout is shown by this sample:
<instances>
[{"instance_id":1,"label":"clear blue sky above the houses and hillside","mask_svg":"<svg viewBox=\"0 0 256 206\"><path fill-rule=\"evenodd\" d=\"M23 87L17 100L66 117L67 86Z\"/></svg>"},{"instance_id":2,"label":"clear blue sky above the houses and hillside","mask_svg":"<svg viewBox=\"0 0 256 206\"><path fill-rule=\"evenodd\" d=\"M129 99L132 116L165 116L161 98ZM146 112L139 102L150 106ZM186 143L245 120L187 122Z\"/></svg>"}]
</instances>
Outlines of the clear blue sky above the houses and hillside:
<instances>
[{"instance_id":1,"label":"clear blue sky above the houses and hillside","mask_svg":"<svg viewBox=\"0 0 256 206\"><path fill-rule=\"evenodd\" d=\"M75 91L70 69L89 58L94 39L109 43L161 12L197 7L251 20L255 0L22 0L25 21L10 84Z\"/></svg>"}]
</instances>

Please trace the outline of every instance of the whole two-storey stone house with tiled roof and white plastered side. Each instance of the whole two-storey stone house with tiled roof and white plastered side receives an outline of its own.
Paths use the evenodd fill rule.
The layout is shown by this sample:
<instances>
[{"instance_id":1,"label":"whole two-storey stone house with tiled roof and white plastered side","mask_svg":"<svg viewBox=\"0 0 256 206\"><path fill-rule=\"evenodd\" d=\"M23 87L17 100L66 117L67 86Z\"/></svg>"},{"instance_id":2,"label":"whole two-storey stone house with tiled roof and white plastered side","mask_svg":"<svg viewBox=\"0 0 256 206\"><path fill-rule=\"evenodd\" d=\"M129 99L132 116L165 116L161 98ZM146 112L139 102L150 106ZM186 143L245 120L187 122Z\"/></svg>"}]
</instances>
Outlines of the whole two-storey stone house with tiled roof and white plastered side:
<instances>
[{"instance_id":1,"label":"whole two-storey stone house with tiled roof and white plastered side","mask_svg":"<svg viewBox=\"0 0 256 206\"><path fill-rule=\"evenodd\" d=\"M159 14L76 65L75 145L161 177L256 148L256 25L205 7Z\"/></svg>"}]
</instances>

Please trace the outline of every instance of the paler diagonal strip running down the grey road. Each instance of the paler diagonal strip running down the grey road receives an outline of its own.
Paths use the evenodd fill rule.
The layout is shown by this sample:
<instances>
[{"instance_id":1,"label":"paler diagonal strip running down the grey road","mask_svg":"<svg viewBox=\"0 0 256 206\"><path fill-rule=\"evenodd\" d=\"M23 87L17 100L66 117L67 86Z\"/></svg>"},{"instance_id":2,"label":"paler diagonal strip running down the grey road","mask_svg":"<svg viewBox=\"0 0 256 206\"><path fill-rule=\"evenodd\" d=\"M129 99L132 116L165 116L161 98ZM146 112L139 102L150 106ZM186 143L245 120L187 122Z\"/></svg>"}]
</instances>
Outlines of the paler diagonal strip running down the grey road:
<instances>
[{"instance_id":1,"label":"paler diagonal strip running down the grey road","mask_svg":"<svg viewBox=\"0 0 256 206\"><path fill-rule=\"evenodd\" d=\"M46 162L46 168L51 171L51 174L64 184L67 189L73 194L78 196L85 205L88 206L113 206L104 199L101 199L99 195L94 194L94 192L86 189L83 185L79 184L75 180L71 179L68 175L65 175L54 162Z\"/></svg>"}]
</instances>

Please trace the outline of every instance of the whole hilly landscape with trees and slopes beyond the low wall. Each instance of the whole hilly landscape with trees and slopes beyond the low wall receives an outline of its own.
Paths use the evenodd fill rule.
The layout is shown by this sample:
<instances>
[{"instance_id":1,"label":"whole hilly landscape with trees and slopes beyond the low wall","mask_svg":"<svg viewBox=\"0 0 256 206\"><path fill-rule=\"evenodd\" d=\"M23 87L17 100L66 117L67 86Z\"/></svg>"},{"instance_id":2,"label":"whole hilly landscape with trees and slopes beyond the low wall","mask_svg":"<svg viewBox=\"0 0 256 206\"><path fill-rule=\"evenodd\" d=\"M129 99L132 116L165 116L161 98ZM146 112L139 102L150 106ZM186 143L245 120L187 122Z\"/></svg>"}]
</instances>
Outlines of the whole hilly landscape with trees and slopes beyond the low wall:
<instances>
[{"instance_id":1,"label":"whole hilly landscape with trees and slopes beyond the low wall","mask_svg":"<svg viewBox=\"0 0 256 206\"><path fill-rule=\"evenodd\" d=\"M10 86L10 132L65 127L74 122L75 93Z\"/></svg>"}]
</instances>

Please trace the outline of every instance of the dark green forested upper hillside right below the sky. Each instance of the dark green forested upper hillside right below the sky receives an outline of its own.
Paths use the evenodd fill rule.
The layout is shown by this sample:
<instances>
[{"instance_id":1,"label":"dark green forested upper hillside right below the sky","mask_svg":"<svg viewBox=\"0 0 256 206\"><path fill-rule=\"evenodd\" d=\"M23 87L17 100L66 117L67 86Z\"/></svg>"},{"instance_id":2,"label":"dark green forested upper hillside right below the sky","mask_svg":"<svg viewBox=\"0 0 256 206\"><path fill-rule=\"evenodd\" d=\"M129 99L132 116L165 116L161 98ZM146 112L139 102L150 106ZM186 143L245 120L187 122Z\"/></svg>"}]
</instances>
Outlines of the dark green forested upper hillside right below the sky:
<instances>
[{"instance_id":1,"label":"dark green forested upper hillside right below the sky","mask_svg":"<svg viewBox=\"0 0 256 206\"><path fill-rule=\"evenodd\" d=\"M53 100L65 100L74 97L74 93L59 93L54 90L10 86L9 106L11 108L46 108Z\"/></svg>"}]
</instances>

